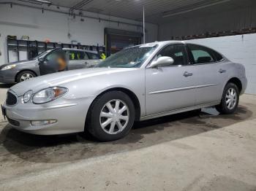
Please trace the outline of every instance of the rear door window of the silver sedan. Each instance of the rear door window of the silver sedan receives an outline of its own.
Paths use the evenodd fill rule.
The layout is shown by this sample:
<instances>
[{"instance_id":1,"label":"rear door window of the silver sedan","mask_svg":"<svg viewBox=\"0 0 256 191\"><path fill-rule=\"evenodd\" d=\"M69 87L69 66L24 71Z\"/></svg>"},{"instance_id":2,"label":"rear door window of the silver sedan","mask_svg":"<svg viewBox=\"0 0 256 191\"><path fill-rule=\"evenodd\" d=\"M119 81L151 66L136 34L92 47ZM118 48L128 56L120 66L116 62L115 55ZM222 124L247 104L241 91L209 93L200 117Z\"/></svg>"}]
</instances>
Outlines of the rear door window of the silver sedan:
<instances>
[{"instance_id":1,"label":"rear door window of the silver sedan","mask_svg":"<svg viewBox=\"0 0 256 191\"><path fill-rule=\"evenodd\" d=\"M208 47L202 47L196 44L188 44L189 50L191 51L192 63L212 63L216 59L214 57L214 50L209 49Z\"/></svg>"}]
</instances>

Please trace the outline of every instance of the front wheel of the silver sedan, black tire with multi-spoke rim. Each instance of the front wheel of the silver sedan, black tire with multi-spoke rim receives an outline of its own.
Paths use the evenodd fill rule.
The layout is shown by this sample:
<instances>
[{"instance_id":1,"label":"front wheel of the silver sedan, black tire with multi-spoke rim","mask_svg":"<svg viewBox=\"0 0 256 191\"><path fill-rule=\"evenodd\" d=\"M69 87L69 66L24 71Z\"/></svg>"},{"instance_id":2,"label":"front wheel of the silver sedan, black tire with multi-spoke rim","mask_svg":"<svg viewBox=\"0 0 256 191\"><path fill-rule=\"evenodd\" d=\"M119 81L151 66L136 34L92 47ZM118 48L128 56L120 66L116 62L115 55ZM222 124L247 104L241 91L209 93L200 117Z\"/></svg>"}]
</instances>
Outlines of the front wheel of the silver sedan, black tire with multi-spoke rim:
<instances>
[{"instance_id":1,"label":"front wheel of the silver sedan, black tire with multi-spoke rim","mask_svg":"<svg viewBox=\"0 0 256 191\"><path fill-rule=\"evenodd\" d=\"M126 136L134 121L135 106L131 98L121 91L111 91L93 102L85 128L99 141L114 141Z\"/></svg>"}]
</instances>

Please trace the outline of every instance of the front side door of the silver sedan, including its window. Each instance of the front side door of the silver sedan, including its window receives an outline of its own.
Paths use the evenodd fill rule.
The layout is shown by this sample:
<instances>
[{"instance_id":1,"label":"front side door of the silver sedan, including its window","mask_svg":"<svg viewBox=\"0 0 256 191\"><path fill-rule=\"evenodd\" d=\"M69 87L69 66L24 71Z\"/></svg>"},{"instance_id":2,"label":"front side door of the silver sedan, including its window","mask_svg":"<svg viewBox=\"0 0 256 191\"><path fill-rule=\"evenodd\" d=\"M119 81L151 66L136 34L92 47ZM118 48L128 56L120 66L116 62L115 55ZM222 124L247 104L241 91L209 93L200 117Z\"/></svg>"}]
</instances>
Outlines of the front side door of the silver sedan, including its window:
<instances>
[{"instance_id":1,"label":"front side door of the silver sedan, including its window","mask_svg":"<svg viewBox=\"0 0 256 191\"><path fill-rule=\"evenodd\" d=\"M189 67L184 44L170 44L161 50L172 66L146 69L146 114L157 114L195 105L194 69Z\"/></svg>"}]
</instances>

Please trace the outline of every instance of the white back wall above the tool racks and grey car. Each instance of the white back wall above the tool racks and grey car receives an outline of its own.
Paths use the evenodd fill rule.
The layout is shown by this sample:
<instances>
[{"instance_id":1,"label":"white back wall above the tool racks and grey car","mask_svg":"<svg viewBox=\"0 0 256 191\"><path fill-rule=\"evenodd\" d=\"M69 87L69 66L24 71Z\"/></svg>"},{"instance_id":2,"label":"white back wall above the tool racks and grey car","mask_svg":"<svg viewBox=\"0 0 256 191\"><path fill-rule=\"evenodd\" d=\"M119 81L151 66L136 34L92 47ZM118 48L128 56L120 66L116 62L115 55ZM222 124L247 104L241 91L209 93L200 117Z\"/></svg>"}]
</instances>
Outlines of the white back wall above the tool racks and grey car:
<instances>
[{"instance_id":1,"label":"white back wall above the tool racks and grey car","mask_svg":"<svg viewBox=\"0 0 256 191\"><path fill-rule=\"evenodd\" d=\"M64 9L61 7L61 9ZM118 20L120 22L140 24L135 20L127 20L118 17L108 17L106 15L98 15L91 12L84 12L84 15L93 17L105 17L110 20ZM69 20L69 21L68 21ZM69 27L68 27L69 26ZM50 12L45 10L20 7L10 4L0 4L0 65L7 62L7 35L18 36L28 35L31 40L45 41L50 39L51 42L70 43L71 40L77 40L81 44L86 45L103 45L104 44L104 28L117 28L127 31L138 31L142 29L137 26L129 26L126 24L111 23L91 18L84 18L84 22L80 21L80 17L75 19L59 12ZM70 28L70 29L68 29ZM154 42L157 40L158 26L146 23L147 34L146 42ZM69 39L68 32L72 35Z\"/></svg>"}]
</instances>

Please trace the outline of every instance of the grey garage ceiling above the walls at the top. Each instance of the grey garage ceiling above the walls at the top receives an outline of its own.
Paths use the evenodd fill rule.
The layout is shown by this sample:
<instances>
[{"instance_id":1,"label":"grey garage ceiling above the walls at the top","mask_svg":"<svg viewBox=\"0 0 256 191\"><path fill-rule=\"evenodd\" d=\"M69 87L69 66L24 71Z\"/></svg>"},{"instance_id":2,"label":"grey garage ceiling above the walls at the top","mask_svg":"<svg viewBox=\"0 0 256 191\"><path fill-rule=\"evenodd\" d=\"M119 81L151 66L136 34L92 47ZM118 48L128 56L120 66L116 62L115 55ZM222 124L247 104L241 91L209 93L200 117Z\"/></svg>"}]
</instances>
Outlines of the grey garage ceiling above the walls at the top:
<instances>
[{"instance_id":1,"label":"grey garage ceiling above the walls at the top","mask_svg":"<svg viewBox=\"0 0 256 191\"><path fill-rule=\"evenodd\" d=\"M25 2L24 2L25 1ZM19 0L26 3L31 0ZM142 20L145 7L146 22L167 23L170 17L211 14L211 12L238 9L253 0L48 0L53 5L97 12L104 15Z\"/></svg>"}]
</instances>

